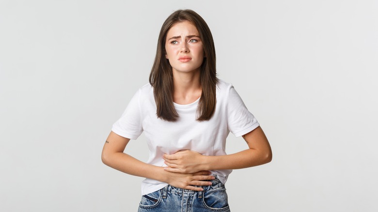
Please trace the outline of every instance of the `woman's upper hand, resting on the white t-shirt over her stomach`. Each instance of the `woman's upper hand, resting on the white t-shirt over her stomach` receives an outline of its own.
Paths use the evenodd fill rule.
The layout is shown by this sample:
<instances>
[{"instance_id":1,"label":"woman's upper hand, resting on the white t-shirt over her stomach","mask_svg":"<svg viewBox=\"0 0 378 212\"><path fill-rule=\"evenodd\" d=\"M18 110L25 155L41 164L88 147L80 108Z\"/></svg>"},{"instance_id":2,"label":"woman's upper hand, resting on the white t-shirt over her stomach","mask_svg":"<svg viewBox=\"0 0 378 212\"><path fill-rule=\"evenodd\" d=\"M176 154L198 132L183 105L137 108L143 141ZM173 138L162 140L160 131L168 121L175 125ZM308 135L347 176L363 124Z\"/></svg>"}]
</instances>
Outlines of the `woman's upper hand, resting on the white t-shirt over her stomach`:
<instances>
[{"instance_id":1,"label":"woman's upper hand, resting on the white t-shirt over her stomach","mask_svg":"<svg viewBox=\"0 0 378 212\"><path fill-rule=\"evenodd\" d=\"M177 151L174 154L164 154L163 159L168 167L164 170L175 173L196 173L204 171L205 156L191 150Z\"/></svg>"}]
</instances>

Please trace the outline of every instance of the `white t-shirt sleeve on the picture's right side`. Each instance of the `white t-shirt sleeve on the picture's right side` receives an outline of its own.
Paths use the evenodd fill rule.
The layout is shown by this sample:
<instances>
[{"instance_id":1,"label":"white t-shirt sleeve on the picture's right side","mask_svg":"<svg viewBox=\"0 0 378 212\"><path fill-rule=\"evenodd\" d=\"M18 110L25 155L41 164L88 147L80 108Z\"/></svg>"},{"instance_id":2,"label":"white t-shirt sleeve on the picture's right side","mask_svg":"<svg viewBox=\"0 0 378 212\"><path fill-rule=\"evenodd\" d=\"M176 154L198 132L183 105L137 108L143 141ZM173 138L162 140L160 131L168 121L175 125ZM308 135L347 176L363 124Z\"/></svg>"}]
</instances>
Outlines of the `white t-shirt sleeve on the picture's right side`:
<instances>
[{"instance_id":1,"label":"white t-shirt sleeve on the picture's right side","mask_svg":"<svg viewBox=\"0 0 378 212\"><path fill-rule=\"evenodd\" d=\"M229 90L227 99L227 125L236 137L243 136L259 126L233 86Z\"/></svg>"}]
</instances>

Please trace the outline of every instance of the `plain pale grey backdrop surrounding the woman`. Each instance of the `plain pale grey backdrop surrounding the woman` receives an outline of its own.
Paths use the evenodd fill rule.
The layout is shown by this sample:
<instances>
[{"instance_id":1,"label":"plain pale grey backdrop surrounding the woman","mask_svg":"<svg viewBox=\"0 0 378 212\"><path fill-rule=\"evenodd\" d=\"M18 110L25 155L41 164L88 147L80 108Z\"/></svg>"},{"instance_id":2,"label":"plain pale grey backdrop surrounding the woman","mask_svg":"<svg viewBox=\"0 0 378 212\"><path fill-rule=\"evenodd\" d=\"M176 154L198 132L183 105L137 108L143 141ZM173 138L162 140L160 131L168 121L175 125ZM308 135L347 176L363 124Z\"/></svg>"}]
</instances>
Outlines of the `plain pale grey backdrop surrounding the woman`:
<instances>
[{"instance_id":1,"label":"plain pale grey backdrop surrounding the woman","mask_svg":"<svg viewBox=\"0 0 378 212\"><path fill-rule=\"evenodd\" d=\"M0 0L0 210L137 211L143 179L100 155L177 9L205 19L273 150L230 175L231 210L378 211L377 0ZM126 152L146 161L144 136Z\"/></svg>"}]
</instances>

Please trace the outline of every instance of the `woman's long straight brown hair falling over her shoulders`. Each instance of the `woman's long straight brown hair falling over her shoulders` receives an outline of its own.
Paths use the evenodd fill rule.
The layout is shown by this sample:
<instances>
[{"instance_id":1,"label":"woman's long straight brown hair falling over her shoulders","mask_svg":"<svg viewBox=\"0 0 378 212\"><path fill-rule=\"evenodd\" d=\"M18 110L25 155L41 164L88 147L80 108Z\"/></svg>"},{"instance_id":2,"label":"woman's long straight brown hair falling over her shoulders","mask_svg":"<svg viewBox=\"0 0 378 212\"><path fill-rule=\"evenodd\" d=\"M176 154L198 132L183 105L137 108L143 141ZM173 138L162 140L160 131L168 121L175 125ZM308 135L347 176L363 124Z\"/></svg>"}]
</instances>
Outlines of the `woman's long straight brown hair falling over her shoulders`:
<instances>
[{"instance_id":1,"label":"woman's long straight brown hair falling over her shoulders","mask_svg":"<svg viewBox=\"0 0 378 212\"><path fill-rule=\"evenodd\" d=\"M166 121L176 121L179 117L173 106L173 73L171 64L165 58L165 39L173 24L183 21L192 23L203 41L205 58L200 72L202 94L197 107L197 121L207 121L213 116L216 106L218 78L215 67L215 46L213 36L205 20L192 10L173 12L161 26L155 62L150 74L150 84L154 87L157 106L156 114L158 118Z\"/></svg>"}]
</instances>

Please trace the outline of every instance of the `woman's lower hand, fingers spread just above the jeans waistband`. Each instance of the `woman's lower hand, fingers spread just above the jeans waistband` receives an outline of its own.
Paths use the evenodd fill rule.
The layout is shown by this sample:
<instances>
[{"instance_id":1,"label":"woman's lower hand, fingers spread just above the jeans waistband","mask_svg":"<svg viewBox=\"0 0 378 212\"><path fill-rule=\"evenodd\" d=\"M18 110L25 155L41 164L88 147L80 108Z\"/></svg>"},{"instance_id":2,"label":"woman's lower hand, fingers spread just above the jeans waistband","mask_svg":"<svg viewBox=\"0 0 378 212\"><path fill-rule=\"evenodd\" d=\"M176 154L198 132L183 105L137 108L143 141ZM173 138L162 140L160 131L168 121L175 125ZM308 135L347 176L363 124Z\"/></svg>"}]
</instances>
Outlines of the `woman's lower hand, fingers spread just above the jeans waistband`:
<instances>
[{"instance_id":1,"label":"woman's lower hand, fingers spread just above the jeans waistband","mask_svg":"<svg viewBox=\"0 0 378 212\"><path fill-rule=\"evenodd\" d=\"M188 189L193 191L203 191L204 189L197 186L211 185L211 182L206 180L214 180L215 177L211 176L209 171L199 171L191 174L166 172L166 182L174 187Z\"/></svg>"}]
</instances>

